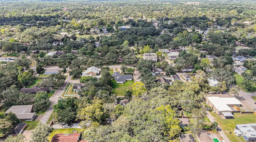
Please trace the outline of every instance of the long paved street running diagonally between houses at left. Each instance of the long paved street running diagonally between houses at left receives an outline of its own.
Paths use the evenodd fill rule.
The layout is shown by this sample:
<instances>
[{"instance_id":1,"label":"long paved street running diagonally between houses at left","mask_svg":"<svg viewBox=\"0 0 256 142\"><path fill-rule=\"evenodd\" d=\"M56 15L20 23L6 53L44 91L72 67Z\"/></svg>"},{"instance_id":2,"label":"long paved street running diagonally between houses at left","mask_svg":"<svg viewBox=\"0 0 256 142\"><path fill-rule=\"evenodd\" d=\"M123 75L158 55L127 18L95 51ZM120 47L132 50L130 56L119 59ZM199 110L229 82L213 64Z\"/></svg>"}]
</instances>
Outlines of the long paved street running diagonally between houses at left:
<instances>
[{"instance_id":1,"label":"long paved street running diagonally between houses at left","mask_svg":"<svg viewBox=\"0 0 256 142\"><path fill-rule=\"evenodd\" d=\"M52 111L53 111L52 106L58 103L59 97L62 97L62 93L65 91L65 88L68 85L68 83L70 82L71 77L72 76L68 76L68 78L64 82L63 86L58 88L58 90L55 91L54 95L52 97L50 97L51 105L49 106L46 113L44 114L44 116L41 119L41 122L43 124L47 123L47 121L48 121L48 119L49 119L49 117L50 117L50 115L52 114Z\"/></svg>"}]
</instances>

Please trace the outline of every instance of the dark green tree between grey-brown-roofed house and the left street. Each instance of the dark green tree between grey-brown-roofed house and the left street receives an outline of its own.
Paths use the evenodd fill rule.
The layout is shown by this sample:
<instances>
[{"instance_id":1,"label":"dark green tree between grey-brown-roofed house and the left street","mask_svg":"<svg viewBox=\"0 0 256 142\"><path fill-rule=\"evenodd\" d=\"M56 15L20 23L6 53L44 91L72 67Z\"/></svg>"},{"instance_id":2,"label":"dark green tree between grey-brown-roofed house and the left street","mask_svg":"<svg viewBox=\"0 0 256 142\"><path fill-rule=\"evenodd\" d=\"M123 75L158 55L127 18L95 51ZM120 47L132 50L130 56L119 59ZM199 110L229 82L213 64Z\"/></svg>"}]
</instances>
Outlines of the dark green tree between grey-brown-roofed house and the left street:
<instances>
[{"instance_id":1,"label":"dark green tree between grey-brown-roofed house and the left street","mask_svg":"<svg viewBox=\"0 0 256 142\"><path fill-rule=\"evenodd\" d=\"M51 104L49 101L49 95L47 92L42 92L39 91L35 95L35 103L34 103L34 111L39 110L39 109L45 109L48 105Z\"/></svg>"}]
</instances>

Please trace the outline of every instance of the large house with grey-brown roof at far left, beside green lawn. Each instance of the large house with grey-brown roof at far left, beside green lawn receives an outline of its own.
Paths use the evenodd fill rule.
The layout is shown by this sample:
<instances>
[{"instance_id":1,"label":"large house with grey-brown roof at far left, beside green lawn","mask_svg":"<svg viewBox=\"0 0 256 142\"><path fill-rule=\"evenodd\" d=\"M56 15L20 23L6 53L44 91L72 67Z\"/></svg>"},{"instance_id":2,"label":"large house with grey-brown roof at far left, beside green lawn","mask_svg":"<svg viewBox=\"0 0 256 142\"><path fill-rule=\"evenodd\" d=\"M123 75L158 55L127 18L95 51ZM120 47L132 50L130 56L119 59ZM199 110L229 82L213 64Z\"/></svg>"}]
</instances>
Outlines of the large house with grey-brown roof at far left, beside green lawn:
<instances>
[{"instance_id":1,"label":"large house with grey-brown roof at far left, beside green lawn","mask_svg":"<svg viewBox=\"0 0 256 142\"><path fill-rule=\"evenodd\" d=\"M33 113L33 105L13 105L4 115L10 112L16 114L17 118L21 121L33 121L36 117L36 113Z\"/></svg>"}]
</instances>

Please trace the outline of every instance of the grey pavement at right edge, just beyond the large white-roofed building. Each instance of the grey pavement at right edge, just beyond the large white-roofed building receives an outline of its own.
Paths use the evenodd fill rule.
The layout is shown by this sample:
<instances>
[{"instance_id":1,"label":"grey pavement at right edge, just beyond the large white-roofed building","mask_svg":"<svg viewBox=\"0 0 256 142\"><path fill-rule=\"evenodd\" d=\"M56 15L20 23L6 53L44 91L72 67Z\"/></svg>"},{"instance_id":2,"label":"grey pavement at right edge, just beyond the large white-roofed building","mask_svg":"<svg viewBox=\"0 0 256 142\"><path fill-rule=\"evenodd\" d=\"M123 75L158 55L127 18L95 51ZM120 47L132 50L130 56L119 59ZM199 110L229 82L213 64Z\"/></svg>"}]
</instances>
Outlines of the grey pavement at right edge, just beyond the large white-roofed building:
<instances>
[{"instance_id":1,"label":"grey pavement at right edge, just beyond the large white-roofed building","mask_svg":"<svg viewBox=\"0 0 256 142\"><path fill-rule=\"evenodd\" d=\"M248 109L256 109L256 104L254 99L252 99L252 93L246 93L244 91L239 91L239 96L237 97L241 103L245 106L248 107Z\"/></svg>"}]
</instances>

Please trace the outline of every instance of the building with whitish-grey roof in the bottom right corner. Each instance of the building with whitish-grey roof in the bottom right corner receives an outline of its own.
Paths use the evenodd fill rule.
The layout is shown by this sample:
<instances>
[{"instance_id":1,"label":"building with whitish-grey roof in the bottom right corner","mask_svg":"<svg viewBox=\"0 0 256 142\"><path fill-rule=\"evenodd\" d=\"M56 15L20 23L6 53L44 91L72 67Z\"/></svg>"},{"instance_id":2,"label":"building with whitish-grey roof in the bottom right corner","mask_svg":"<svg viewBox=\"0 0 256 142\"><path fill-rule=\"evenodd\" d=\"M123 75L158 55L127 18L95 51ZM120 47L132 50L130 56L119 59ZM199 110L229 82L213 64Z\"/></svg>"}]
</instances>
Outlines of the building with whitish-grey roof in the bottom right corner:
<instances>
[{"instance_id":1,"label":"building with whitish-grey roof in the bottom right corner","mask_svg":"<svg viewBox=\"0 0 256 142\"><path fill-rule=\"evenodd\" d=\"M242 136L246 142L256 142L256 123L236 124L236 136Z\"/></svg>"}]
</instances>

